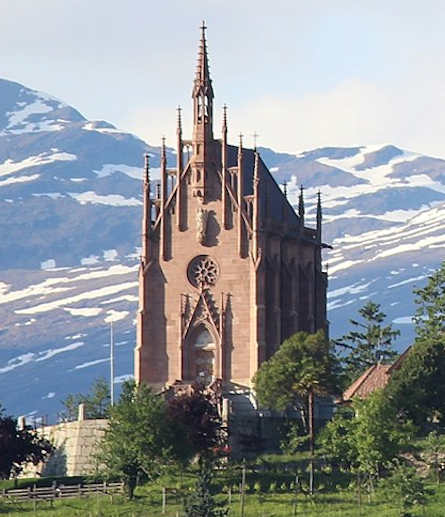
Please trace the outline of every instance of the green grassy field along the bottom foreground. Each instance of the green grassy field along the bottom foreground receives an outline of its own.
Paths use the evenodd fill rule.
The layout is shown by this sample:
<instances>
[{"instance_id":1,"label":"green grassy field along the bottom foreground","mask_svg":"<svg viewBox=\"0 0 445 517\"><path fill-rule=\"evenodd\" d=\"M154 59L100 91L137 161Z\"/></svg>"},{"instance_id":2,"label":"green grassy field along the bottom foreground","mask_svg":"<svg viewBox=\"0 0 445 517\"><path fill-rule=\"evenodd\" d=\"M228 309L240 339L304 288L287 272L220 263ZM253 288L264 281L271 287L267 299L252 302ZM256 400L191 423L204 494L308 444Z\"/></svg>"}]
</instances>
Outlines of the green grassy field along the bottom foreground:
<instances>
[{"instance_id":1,"label":"green grassy field along the bottom foreground","mask_svg":"<svg viewBox=\"0 0 445 517\"><path fill-rule=\"evenodd\" d=\"M445 487L434 487L427 507L416 508L414 516L444 517ZM227 497L225 497L227 499ZM162 482L139 487L136 497L128 502L123 496L92 496L83 499L65 499L32 503L0 503L0 513L10 517L181 517L182 501L174 495L167 498L165 513L162 513ZM371 502L363 497L359 507L354 490L339 490L333 493L317 494L313 498L303 494L295 497L286 493L247 494L245 517L397 517L400 515L397 502L384 501L377 493ZM232 497L230 517L240 517L240 496Z\"/></svg>"}]
</instances>

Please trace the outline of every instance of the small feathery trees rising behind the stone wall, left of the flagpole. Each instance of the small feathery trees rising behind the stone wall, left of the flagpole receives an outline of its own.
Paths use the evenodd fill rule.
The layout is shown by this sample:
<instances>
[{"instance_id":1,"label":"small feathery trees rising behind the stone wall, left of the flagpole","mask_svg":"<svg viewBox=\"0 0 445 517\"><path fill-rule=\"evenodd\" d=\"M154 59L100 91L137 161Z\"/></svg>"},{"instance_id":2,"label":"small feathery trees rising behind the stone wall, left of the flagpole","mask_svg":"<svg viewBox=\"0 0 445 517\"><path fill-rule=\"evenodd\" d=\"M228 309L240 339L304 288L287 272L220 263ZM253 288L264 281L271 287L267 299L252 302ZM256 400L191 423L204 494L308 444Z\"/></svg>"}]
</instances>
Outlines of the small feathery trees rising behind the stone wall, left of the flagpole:
<instances>
[{"instance_id":1,"label":"small feathery trees rising behind the stone wall, left of the flagpole","mask_svg":"<svg viewBox=\"0 0 445 517\"><path fill-rule=\"evenodd\" d=\"M71 393L62 400L63 410L59 416L63 421L77 420L79 404L85 404L87 418L107 418L110 402L109 384L103 377L100 377L94 381L87 394Z\"/></svg>"}]
</instances>

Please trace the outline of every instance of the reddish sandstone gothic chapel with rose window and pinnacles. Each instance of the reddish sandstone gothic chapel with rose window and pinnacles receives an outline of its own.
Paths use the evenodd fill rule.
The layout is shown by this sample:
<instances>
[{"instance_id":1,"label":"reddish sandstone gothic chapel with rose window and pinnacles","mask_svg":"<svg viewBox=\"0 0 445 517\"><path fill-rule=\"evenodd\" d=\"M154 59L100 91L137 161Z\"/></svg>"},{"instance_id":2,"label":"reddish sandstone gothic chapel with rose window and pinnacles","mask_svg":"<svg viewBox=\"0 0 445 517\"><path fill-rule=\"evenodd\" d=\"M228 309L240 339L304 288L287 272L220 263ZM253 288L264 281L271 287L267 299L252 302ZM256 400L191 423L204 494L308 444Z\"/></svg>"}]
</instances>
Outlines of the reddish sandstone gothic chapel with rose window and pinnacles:
<instances>
[{"instance_id":1,"label":"reddish sandstone gothic chapel with rose window and pinnacles","mask_svg":"<svg viewBox=\"0 0 445 517\"><path fill-rule=\"evenodd\" d=\"M220 381L248 390L261 362L299 330L327 331L327 275L316 228L288 202L257 149L213 132L205 26L193 84L193 136L150 196L146 156L135 376L156 388ZM185 152L189 149L191 152Z\"/></svg>"}]
</instances>

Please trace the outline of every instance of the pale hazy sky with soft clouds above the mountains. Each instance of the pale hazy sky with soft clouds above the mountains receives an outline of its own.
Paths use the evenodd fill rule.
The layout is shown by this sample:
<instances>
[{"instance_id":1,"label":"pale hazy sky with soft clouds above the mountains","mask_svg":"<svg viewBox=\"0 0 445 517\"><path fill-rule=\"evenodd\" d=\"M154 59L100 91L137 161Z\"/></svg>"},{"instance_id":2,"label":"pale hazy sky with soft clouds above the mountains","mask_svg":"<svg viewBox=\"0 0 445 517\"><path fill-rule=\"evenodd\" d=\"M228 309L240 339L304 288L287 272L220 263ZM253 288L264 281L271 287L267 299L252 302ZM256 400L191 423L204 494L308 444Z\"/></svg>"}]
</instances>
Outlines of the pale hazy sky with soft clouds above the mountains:
<instances>
[{"instance_id":1,"label":"pale hazy sky with soft clouds above the mountains","mask_svg":"<svg viewBox=\"0 0 445 517\"><path fill-rule=\"evenodd\" d=\"M173 144L202 19L233 142L445 157L445 0L0 0L0 77Z\"/></svg>"}]
</instances>

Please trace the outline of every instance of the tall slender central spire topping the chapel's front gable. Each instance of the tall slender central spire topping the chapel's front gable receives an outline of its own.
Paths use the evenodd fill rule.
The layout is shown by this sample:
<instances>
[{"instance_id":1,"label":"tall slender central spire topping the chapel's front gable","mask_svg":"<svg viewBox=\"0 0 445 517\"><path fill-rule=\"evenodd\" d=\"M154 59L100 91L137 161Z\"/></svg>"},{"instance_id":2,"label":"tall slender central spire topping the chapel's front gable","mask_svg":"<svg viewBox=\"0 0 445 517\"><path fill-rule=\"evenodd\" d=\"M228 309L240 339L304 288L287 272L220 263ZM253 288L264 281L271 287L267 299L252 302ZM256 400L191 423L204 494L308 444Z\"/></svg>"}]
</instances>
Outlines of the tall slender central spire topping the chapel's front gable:
<instances>
[{"instance_id":1,"label":"tall slender central spire topping the chapel's front gable","mask_svg":"<svg viewBox=\"0 0 445 517\"><path fill-rule=\"evenodd\" d=\"M198 51L198 66L193 84L194 130L193 140L204 143L213 140L213 88L209 73L205 22L201 25L201 40Z\"/></svg>"}]
</instances>

